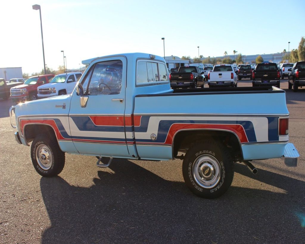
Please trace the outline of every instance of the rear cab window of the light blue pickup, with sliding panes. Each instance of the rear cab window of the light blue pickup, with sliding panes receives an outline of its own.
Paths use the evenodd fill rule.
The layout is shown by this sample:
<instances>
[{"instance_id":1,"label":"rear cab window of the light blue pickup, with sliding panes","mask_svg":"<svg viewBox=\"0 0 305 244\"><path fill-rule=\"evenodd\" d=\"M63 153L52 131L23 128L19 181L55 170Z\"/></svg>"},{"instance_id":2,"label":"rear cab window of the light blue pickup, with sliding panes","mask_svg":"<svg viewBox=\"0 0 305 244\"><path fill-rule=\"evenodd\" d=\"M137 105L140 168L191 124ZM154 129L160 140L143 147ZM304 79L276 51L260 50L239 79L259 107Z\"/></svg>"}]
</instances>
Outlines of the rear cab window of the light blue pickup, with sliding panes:
<instances>
[{"instance_id":1,"label":"rear cab window of the light blue pickup, with sliding panes","mask_svg":"<svg viewBox=\"0 0 305 244\"><path fill-rule=\"evenodd\" d=\"M138 60L136 86L159 83L169 83L165 64L158 61Z\"/></svg>"}]
</instances>

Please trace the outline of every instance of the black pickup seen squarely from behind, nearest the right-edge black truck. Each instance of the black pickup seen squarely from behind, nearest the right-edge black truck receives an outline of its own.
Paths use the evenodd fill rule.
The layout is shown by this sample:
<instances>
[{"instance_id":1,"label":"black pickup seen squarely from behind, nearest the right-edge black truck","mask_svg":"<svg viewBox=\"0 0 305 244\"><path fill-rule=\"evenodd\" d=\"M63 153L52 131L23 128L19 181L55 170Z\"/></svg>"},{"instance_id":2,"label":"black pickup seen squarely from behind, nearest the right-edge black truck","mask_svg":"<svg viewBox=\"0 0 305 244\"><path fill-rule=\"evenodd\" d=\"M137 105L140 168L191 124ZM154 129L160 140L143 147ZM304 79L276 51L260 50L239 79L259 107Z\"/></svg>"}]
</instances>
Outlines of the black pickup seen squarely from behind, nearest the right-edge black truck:
<instances>
[{"instance_id":1,"label":"black pickup seen squarely from behind, nearest the right-edge black truck","mask_svg":"<svg viewBox=\"0 0 305 244\"><path fill-rule=\"evenodd\" d=\"M276 63L259 63L252 73L252 86L280 88L280 72Z\"/></svg>"}]
</instances>

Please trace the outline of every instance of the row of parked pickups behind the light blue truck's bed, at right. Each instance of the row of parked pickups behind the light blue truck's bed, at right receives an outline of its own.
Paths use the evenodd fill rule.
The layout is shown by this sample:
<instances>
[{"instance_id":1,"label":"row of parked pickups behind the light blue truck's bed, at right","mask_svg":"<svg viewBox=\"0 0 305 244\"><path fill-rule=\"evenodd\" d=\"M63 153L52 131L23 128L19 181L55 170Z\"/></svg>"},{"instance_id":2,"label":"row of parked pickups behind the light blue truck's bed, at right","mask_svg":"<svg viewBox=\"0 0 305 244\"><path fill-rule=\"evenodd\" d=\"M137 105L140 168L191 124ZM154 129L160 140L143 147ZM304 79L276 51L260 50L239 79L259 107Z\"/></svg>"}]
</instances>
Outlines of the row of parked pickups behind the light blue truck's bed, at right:
<instances>
[{"instance_id":1,"label":"row of parked pickups behind the light blue truck's bed, at right","mask_svg":"<svg viewBox=\"0 0 305 244\"><path fill-rule=\"evenodd\" d=\"M177 70L178 69L178 70ZM297 91L305 85L305 62L293 63L262 62L259 64L218 64L211 66L181 66L169 70L172 88L205 88L209 87L237 87L237 80L250 78L252 86L276 86L280 88L280 78L288 77L289 89Z\"/></svg>"}]
</instances>

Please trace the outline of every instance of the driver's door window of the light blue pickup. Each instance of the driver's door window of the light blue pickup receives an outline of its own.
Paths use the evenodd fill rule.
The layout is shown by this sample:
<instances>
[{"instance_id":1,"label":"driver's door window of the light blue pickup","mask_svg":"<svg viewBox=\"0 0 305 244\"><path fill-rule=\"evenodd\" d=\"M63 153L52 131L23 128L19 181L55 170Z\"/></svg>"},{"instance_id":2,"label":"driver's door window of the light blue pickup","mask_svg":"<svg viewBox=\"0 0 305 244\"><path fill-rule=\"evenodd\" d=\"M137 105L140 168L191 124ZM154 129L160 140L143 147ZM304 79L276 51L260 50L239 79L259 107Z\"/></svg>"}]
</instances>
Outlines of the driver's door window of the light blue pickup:
<instances>
[{"instance_id":1,"label":"driver's door window of the light blue pickup","mask_svg":"<svg viewBox=\"0 0 305 244\"><path fill-rule=\"evenodd\" d=\"M120 75L122 69L121 60L96 63L89 81L87 95L119 94L122 87L122 76Z\"/></svg>"}]
</instances>

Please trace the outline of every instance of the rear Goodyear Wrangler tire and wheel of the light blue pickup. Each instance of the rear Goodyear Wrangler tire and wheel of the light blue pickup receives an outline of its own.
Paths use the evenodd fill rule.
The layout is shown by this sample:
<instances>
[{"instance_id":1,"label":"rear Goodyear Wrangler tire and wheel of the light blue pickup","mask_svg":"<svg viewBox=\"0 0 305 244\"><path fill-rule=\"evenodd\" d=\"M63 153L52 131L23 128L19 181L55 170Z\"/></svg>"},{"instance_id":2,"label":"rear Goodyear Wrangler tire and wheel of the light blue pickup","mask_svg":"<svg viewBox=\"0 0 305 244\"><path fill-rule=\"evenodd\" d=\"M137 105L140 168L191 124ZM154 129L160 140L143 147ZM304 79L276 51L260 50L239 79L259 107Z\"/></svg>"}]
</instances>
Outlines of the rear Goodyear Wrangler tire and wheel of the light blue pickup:
<instances>
[{"instance_id":1,"label":"rear Goodyear Wrangler tire and wheel of the light blue pickup","mask_svg":"<svg viewBox=\"0 0 305 244\"><path fill-rule=\"evenodd\" d=\"M185 154L182 174L185 184L197 196L217 198L230 187L233 159L228 149L213 141L194 143Z\"/></svg>"}]
</instances>

